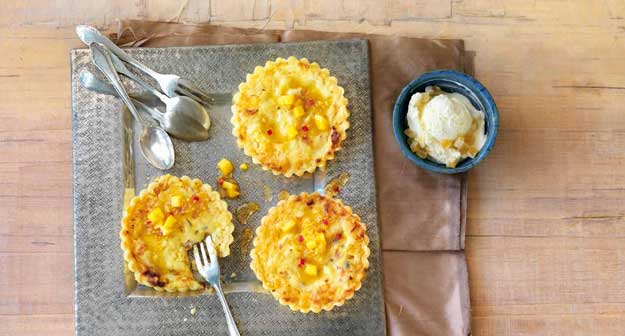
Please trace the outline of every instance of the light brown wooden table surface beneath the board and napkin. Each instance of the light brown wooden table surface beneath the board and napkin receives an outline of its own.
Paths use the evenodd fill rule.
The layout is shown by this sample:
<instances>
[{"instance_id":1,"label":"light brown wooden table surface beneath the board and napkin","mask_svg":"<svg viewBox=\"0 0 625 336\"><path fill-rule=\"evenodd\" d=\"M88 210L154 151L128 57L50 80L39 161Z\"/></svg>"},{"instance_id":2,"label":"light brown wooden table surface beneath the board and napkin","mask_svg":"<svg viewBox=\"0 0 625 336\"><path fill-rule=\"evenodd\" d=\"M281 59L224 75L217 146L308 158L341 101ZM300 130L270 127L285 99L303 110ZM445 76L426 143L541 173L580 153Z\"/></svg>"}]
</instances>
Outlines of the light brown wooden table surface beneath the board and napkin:
<instances>
[{"instance_id":1,"label":"light brown wooden table surface beneath the board and napkin","mask_svg":"<svg viewBox=\"0 0 625 336\"><path fill-rule=\"evenodd\" d=\"M464 39L501 113L469 177L474 335L625 334L624 1L61 3L0 5L0 335L73 333L69 49L117 18Z\"/></svg>"}]
</instances>

